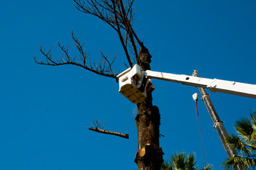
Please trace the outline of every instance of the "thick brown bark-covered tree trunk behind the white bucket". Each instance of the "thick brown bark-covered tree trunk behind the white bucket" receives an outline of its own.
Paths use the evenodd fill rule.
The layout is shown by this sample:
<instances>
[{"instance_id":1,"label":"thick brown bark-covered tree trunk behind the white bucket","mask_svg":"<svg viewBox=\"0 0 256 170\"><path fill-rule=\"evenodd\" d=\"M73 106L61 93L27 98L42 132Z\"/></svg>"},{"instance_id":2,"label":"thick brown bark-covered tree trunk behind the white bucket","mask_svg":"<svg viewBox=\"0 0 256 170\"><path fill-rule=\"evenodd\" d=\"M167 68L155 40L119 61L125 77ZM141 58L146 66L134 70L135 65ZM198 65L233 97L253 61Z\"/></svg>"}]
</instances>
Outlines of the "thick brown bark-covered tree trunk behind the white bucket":
<instances>
[{"instance_id":1,"label":"thick brown bark-covered tree trunk behind the white bucket","mask_svg":"<svg viewBox=\"0 0 256 170\"><path fill-rule=\"evenodd\" d=\"M140 49L140 67L142 70L150 69L151 55L148 49ZM139 170L160 170L163 163L162 148L159 142L160 113L157 106L152 106L152 94L148 92L147 98L138 103L136 125L138 129L138 152L135 162Z\"/></svg>"}]
</instances>

